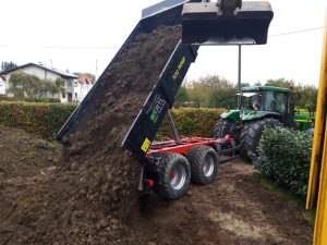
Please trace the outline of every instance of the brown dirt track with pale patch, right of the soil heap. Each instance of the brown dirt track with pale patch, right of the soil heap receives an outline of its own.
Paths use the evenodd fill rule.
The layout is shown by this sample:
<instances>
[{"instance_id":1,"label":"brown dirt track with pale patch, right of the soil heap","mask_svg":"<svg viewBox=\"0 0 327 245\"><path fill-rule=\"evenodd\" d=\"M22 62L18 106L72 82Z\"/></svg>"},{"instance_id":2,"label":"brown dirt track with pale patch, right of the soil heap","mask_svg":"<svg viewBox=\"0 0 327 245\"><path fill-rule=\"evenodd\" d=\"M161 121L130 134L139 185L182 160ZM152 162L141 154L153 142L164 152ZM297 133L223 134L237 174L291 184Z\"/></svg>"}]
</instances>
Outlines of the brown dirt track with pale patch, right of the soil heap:
<instances>
[{"instance_id":1,"label":"brown dirt track with pale patch, right of the soil heap","mask_svg":"<svg viewBox=\"0 0 327 245\"><path fill-rule=\"evenodd\" d=\"M180 200L149 195L129 224L126 244L311 244L302 211L267 191L253 171L239 159L221 166L211 185L191 185Z\"/></svg>"}]
</instances>

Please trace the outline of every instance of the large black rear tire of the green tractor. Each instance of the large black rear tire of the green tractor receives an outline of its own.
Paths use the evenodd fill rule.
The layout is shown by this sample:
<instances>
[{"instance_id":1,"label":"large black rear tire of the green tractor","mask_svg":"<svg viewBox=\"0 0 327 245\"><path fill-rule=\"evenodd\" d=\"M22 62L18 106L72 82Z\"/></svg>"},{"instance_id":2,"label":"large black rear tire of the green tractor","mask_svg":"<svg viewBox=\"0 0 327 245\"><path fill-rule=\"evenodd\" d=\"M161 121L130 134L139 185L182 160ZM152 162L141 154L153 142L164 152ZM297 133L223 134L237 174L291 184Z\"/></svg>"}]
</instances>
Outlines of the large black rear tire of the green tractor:
<instances>
[{"instance_id":1,"label":"large black rear tire of the green tractor","mask_svg":"<svg viewBox=\"0 0 327 245\"><path fill-rule=\"evenodd\" d=\"M257 147L259 145L261 137L266 126L281 126L282 123L277 119L264 118L251 123L245 124L241 132L241 155L247 160L252 159L252 156L257 156Z\"/></svg>"}]
</instances>

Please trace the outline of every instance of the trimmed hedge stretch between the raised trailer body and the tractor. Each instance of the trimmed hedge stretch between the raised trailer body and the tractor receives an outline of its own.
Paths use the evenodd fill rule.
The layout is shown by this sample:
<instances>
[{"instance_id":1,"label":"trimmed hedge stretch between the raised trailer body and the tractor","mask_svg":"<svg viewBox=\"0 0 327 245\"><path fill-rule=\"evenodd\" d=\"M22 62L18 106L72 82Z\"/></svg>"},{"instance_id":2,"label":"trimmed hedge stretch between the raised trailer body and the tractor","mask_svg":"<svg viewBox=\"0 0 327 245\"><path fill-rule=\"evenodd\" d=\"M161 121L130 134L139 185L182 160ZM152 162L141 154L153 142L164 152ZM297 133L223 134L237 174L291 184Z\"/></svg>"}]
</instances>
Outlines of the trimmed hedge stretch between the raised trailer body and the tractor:
<instances>
[{"instance_id":1,"label":"trimmed hedge stretch between the raised trailer body and the tractor","mask_svg":"<svg viewBox=\"0 0 327 245\"><path fill-rule=\"evenodd\" d=\"M211 137L214 126L225 109L172 109L171 114L180 135ZM157 136L171 137L168 120L165 119Z\"/></svg>"}]
</instances>

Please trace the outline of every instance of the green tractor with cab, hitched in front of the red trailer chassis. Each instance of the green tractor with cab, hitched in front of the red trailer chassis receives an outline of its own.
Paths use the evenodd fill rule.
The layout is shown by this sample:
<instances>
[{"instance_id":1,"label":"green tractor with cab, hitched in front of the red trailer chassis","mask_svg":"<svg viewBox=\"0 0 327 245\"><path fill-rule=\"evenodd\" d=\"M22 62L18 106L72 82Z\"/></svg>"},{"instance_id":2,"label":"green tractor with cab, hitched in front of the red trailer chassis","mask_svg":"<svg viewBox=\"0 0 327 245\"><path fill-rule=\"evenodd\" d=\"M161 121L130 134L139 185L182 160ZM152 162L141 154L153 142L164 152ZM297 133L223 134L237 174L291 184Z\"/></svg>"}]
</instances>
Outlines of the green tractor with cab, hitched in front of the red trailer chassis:
<instances>
[{"instance_id":1,"label":"green tractor with cab, hitched in front of the red trailer chassis","mask_svg":"<svg viewBox=\"0 0 327 245\"><path fill-rule=\"evenodd\" d=\"M294 96L290 88L272 86L243 87L241 109L228 110L215 126L216 137L230 135L250 158L256 154L265 126L283 125L313 134L313 119L294 113Z\"/></svg>"}]
</instances>

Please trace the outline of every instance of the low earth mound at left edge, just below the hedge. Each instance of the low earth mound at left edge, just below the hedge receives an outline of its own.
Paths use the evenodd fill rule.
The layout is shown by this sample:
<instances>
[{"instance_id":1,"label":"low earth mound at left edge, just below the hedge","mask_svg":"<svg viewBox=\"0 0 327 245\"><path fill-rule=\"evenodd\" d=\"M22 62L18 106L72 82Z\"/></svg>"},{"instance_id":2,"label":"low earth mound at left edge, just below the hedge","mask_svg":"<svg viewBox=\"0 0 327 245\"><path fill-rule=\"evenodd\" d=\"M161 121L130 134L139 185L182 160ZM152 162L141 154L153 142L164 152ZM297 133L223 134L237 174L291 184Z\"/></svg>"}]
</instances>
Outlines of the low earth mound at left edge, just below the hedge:
<instances>
[{"instance_id":1,"label":"low earth mound at left edge, just below the hedge","mask_svg":"<svg viewBox=\"0 0 327 245\"><path fill-rule=\"evenodd\" d=\"M39 174L59 162L60 148L23 130L0 125L0 180Z\"/></svg>"}]
</instances>

